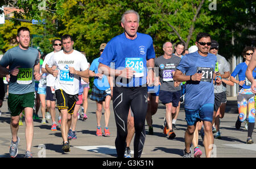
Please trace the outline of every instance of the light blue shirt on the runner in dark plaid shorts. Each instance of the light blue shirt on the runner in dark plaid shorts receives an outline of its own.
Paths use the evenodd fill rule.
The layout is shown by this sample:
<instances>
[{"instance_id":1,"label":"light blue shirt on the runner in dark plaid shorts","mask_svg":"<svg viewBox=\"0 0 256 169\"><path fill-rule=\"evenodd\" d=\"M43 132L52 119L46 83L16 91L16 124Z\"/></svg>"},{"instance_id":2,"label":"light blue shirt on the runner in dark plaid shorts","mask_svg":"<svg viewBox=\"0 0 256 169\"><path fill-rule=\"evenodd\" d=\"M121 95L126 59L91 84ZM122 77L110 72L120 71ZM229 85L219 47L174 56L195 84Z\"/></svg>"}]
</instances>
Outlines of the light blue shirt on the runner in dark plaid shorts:
<instances>
[{"instance_id":1,"label":"light blue shirt on the runner in dark plaid shorts","mask_svg":"<svg viewBox=\"0 0 256 169\"><path fill-rule=\"evenodd\" d=\"M92 62L92 65L90 65L89 70L92 70L92 71L94 71L94 73L97 74L99 64L100 64L100 62L98 62L98 58L94 59ZM109 81L108 81L108 78L106 77L106 75L103 75L102 78L94 77L93 83L99 90L107 90L110 87Z\"/></svg>"}]
</instances>

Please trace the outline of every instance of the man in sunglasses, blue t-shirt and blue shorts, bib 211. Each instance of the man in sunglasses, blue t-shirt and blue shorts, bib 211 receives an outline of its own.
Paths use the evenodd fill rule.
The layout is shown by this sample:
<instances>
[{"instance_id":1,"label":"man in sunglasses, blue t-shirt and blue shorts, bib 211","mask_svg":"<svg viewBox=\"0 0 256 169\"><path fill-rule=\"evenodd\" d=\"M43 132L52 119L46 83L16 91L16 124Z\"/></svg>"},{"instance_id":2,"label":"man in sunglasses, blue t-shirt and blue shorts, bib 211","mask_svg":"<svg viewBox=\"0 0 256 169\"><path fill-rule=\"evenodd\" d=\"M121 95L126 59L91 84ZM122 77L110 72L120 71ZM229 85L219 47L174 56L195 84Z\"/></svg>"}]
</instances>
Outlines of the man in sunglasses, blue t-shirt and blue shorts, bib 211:
<instances>
[{"instance_id":1,"label":"man in sunglasses, blue t-shirt and blue shorts, bib 211","mask_svg":"<svg viewBox=\"0 0 256 169\"><path fill-rule=\"evenodd\" d=\"M184 157L191 157L190 147L197 121L204 122L205 154L206 157L210 157L211 145L213 145L213 80L220 83L221 79L214 74L217 58L209 53L210 35L199 33L196 37L196 45L198 51L185 55L180 61L174 74L174 81L187 81L184 108L188 126L185 132Z\"/></svg>"}]
</instances>

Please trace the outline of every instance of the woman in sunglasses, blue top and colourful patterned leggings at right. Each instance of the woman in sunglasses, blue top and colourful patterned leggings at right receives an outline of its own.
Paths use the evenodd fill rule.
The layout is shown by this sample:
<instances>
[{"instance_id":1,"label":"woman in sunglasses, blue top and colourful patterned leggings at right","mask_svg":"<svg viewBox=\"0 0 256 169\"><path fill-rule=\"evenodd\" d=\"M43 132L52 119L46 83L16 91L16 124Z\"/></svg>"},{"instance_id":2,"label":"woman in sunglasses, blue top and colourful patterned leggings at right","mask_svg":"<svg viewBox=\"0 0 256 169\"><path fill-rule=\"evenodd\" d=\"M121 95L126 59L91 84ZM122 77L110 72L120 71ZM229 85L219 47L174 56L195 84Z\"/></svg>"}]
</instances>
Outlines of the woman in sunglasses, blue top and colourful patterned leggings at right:
<instances>
[{"instance_id":1,"label":"woman in sunglasses, blue top and colourful patterned leggings at right","mask_svg":"<svg viewBox=\"0 0 256 169\"><path fill-rule=\"evenodd\" d=\"M239 84L240 91L237 95L237 104L239 115L236 121L236 129L240 129L241 122L247 123L247 144L253 143L251 135L255 125L255 94L251 91L251 82L246 78L245 72L247 65L249 65L251 56L253 55L253 47L245 47L242 51L242 56L245 58L245 62L238 64L231 74L230 81ZM239 81L235 79L238 75ZM256 69L253 70L253 78L256 77ZM254 81L250 78L250 80Z\"/></svg>"}]
</instances>

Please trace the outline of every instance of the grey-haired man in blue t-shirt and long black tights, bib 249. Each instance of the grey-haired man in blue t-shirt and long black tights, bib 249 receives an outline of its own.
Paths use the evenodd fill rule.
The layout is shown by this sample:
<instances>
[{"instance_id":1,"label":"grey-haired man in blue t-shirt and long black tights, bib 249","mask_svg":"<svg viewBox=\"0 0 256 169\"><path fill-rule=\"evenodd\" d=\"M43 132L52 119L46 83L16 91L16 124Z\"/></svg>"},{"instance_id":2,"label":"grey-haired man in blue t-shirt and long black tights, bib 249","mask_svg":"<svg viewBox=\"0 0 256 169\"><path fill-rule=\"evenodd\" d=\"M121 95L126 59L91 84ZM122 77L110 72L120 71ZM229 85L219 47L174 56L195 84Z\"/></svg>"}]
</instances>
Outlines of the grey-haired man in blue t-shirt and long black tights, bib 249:
<instances>
[{"instance_id":1,"label":"grey-haired man in blue t-shirt and long black tights, bib 249","mask_svg":"<svg viewBox=\"0 0 256 169\"><path fill-rule=\"evenodd\" d=\"M134 10L122 15L124 31L106 45L99 58L99 70L115 77L113 107L117 125L115 147L117 156L125 154L127 137L127 116L129 109L134 113L134 157L141 157L145 141L144 122L147 107L147 84L154 84L155 50L149 35L138 33L139 14ZM114 69L110 68L114 62ZM150 67L150 68L149 68ZM148 69L148 71L147 71Z\"/></svg>"}]
</instances>

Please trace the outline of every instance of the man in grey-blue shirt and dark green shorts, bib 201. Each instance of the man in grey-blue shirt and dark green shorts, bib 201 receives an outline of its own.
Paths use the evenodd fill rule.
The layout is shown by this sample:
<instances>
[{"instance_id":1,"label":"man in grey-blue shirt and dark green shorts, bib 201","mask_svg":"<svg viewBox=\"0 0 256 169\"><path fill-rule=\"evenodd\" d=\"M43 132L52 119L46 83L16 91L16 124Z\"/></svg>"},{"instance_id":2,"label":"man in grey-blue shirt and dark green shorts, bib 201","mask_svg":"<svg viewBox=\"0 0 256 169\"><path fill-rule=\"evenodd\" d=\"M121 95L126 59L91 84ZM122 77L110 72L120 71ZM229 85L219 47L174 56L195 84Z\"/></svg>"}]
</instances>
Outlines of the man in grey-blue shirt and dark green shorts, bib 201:
<instances>
[{"instance_id":1,"label":"man in grey-blue shirt and dark green shorts, bib 201","mask_svg":"<svg viewBox=\"0 0 256 169\"><path fill-rule=\"evenodd\" d=\"M26 158L31 158L31 146L34 134L33 110L35 106L35 79L40 80L40 64L38 50L29 47L30 29L20 27L17 32L16 40L19 45L7 50L0 65L9 66L3 72L4 75L10 74L8 107L11 114L11 145L10 157L18 154L18 129L19 115L24 109L26 115ZM34 76L33 76L34 75Z\"/></svg>"}]
</instances>

